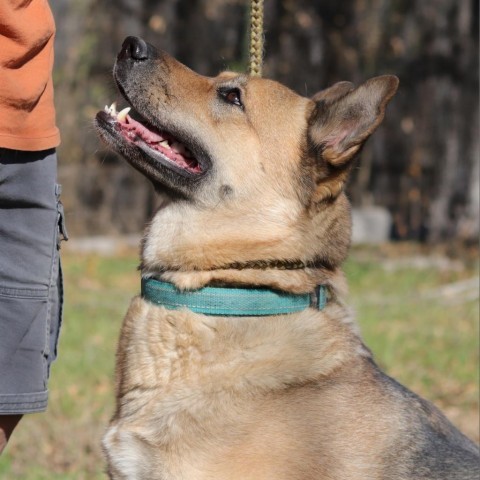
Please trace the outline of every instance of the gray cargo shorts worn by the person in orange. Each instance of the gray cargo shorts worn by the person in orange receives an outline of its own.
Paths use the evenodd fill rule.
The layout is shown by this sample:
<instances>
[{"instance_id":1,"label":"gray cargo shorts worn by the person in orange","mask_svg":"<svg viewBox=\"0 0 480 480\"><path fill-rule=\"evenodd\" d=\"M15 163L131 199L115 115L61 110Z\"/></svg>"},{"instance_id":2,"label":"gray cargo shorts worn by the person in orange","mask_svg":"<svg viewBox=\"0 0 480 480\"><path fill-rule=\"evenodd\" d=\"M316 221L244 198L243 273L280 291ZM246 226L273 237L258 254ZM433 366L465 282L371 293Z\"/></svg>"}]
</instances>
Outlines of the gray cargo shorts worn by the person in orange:
<instances>
[{"instance_id":1,"label":"gray cargo shorts worn by the person in orange","mask_svg":"<svg viewBox=\"0 0 480 480\"><path fill-rule=\"evenodd\" d=\"M0 415L47 406L62 317L66 235L54 149L0 148Z\"/></svg>"}]
</instances>

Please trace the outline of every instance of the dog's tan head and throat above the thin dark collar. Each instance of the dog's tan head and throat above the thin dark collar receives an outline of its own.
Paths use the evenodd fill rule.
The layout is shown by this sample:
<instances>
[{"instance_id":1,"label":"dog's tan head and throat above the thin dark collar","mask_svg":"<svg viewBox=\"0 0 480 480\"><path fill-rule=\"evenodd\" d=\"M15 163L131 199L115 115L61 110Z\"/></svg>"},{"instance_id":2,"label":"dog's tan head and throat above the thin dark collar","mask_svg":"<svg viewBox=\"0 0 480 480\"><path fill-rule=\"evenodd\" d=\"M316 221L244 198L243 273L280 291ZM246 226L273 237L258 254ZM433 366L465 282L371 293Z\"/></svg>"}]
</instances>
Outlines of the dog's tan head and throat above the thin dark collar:
<instances>
[{"instance_id":1,"label":"dog's tan head and throat above the thin dark collar","mask_svg":"<svg viewBox=\"0 0 480 480\"><path fill-rule=\"evenodd\" d=\"M100 112L100 135L167 197L148 229L148 268L341 263L350 242L343 187L396 77L341 82L309 99L263 78L198 75L134 37L114 77L135 113Z\"/></svg>"}]
</instances>

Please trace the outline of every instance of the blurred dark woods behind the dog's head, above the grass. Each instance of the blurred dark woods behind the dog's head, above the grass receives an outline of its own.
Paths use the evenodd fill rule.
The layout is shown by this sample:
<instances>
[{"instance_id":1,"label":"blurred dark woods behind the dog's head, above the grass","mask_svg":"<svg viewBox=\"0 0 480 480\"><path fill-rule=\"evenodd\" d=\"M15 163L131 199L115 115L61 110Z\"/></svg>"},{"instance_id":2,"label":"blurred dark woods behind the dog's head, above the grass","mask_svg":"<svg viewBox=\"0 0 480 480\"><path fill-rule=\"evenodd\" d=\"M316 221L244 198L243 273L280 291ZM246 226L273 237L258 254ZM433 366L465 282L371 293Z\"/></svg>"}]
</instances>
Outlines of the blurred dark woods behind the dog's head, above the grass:
<instances>
[{"instance_id":1,"label":"blurred dark woods behind the dog's head, above the grass","mask_svg":"<svg viewBox=\"0 0 480 480\"><path fill-rule=\"evenodd\" d=\"M120 98L111 71L122 41L141 36L203 75L246 71L249 2L62 0L52 7L68 226L76 236L137 233L154 208L152 191L92 128L97 110ZM400 78L349 186L355 207L385 209L392 239L477 241L478 15L477 0L265 1L264 76L306 96L341 80Z\"/></svg>"}]
</instances>

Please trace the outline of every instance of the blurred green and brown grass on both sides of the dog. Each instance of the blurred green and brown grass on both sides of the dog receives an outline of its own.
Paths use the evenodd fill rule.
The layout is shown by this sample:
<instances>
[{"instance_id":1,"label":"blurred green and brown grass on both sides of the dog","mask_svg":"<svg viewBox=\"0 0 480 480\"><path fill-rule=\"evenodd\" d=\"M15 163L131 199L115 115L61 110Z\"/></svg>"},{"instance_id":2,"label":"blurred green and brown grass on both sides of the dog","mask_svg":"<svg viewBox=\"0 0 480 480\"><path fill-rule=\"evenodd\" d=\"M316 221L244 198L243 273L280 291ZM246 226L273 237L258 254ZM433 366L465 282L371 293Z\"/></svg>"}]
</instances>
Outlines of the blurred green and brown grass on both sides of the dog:
<instances>
[{"instance_id":1,"label":"blurred green and brown grass on both sides of the dog","mask_svg":"<svg viewBox=\"0 0 480 480\"><path fill-rule=\"evenodd\" d=\"M478 264L419 268L406 261L415 252L397 250L355 249L345 265L365 342L390 375L478 441L478 298L444 291L478 275ZM100 439L113 408L118 331L139 289L138 260L129 251L65 249L63 263L67 302L49 408L22 420L0 457L2 479L105 479Z\"/></svg>"}]
</instances>

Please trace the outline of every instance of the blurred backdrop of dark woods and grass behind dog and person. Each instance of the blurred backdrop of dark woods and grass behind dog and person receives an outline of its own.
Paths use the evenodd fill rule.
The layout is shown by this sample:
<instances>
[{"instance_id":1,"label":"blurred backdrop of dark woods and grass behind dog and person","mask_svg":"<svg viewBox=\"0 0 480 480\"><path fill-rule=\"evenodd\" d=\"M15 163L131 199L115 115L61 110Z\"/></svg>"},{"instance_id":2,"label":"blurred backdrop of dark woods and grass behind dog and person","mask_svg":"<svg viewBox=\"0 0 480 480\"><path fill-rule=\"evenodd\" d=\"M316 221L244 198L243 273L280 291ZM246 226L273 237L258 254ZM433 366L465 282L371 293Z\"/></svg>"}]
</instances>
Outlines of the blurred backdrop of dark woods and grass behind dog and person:
<instances>
[{"instance_id":1,"label":"blurred backdrop of dark woods and grass behind dog and person","mask_svg":"<svg viewBox=\"0 0 480 480\"><path fill-rule=\"evenodd\" d=\"M147 180L106 150L96 112L127 35L204 75L246 71L247 0L61 0L55 86L71 240L48 411L22 420L0 479L105 480L116 339L139 290ZM400 89L348 190L348 302L389 375L479 432L478 0L265 0L264 76L302 95L393 73ZM119 107L122 108L119 101ZM133 238L131 237L133 235Z\"/></svg>"}]
</instances>

